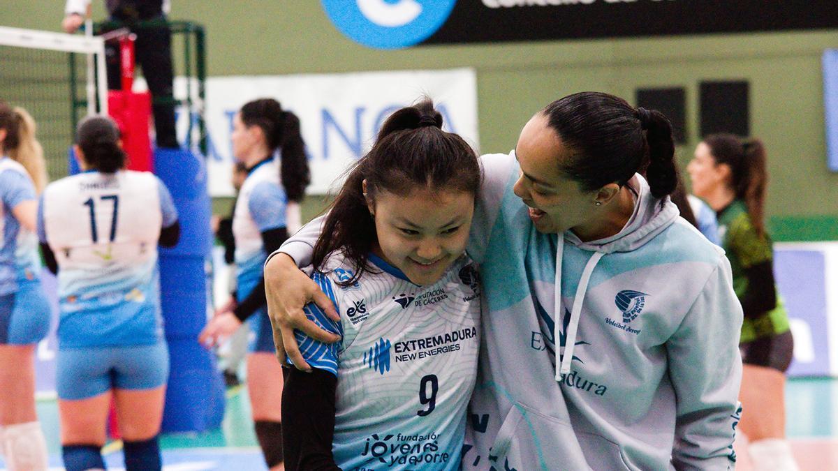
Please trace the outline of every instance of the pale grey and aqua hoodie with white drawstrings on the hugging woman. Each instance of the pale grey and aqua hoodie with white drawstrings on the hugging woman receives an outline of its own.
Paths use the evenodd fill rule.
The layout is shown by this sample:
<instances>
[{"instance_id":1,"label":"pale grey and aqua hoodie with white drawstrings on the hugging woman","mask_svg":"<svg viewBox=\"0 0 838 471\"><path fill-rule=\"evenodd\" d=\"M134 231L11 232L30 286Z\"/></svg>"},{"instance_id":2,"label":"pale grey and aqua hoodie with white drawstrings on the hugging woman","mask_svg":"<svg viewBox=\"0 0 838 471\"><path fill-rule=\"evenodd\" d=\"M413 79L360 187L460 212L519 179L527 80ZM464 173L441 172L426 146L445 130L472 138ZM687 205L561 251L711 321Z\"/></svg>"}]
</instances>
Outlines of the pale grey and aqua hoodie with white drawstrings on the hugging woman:
<instances>
[{"instance_id":1,"label":"pale grey and aqua hoodie with white drawstrings on the hugging woman","mask_svg":"<svg viewBox=\"0 0 838 471\"><path fill-rule=\"evenodd\" d=\"M557 244L512 192L514 153L482 163L468 254L485 295L463 468L732 468L742 308L724 252L639 175L623 230ZM312 232L281 250L305 264Z\"/></svg>"}]
</instances>

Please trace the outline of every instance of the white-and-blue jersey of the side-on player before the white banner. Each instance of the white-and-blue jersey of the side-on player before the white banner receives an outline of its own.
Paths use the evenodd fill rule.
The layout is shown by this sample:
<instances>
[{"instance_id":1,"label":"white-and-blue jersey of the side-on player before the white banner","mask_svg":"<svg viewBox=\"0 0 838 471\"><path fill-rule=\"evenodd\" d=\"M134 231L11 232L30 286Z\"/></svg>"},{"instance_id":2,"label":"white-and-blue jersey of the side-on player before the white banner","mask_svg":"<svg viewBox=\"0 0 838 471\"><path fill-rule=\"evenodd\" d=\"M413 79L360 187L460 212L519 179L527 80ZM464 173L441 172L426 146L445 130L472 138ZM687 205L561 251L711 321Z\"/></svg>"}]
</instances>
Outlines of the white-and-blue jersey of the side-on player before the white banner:
<instances>
[{"instance_id":1,"label":"white-and-blue jersey of the side-on player before the white banner","mask_svg":"<svg viewBox=\"0 0 838 471\"><path fill-rule=\"evenodd\" d=\"M267 257L261 233L286 226L286 203L276 161L258 163L241 185L233 215L236 279L240 290L250 292L261 278L262 264Z\"/></svg>"}]
</instances>

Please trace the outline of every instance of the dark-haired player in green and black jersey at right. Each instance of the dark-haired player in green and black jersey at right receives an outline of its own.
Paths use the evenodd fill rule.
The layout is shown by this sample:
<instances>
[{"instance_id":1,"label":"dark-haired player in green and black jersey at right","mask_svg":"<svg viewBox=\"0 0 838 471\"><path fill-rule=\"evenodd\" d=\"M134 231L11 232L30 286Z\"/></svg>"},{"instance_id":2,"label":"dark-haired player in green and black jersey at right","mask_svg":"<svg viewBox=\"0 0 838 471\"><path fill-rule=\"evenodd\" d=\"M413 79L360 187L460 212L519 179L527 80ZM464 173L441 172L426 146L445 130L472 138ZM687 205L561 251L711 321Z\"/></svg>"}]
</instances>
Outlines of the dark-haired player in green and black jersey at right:
<instances>
[{"instance_id":1,"label":"dark-haired player in green and black jersey at right","mask_svg":"<svg viewBox=\"0 0 838 471\"><path fill-rule=\"evenodd\" d=\"M789 315L774 282L773 248L765 230L768 186L765 148L758 139L712 134L696 147L687 171L693 192L716 211L742 303L742 422L754 467L794 470L785 439L785 371L794 354Z\"/></svg>"}]
</instances>

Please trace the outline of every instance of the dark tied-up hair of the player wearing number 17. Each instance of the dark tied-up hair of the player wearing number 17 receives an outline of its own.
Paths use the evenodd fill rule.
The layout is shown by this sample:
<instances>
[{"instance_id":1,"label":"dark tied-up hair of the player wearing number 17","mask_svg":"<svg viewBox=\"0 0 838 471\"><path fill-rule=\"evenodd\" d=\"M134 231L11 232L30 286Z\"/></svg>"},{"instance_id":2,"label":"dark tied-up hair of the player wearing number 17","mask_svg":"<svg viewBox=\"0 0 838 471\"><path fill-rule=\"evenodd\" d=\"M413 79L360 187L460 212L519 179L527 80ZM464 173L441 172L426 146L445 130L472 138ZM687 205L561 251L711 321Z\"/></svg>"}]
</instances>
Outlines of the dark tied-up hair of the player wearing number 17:
<instances>
[{"instance_id":1,"label":"dark tied-up hair of the player wearing number 17","mask_svg":"<svg viewBox=\"0 0 838 471\"><path fill-rule=\"evenodd\" d=\"M107 116L88 116L75 131L75 143L85 153L85 162L101 173L115 173L125 165L119 146L119 128Z\"/></svg>"}]
</instances>

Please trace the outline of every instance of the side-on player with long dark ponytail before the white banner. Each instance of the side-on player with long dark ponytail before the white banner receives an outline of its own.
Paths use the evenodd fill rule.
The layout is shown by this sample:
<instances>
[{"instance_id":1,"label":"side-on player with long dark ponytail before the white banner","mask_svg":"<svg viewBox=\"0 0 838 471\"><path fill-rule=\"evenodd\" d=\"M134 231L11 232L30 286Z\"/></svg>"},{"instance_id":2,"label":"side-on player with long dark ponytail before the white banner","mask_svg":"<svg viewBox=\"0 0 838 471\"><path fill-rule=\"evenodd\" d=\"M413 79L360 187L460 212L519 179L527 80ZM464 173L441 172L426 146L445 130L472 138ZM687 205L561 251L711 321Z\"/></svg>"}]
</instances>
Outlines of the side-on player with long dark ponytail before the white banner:
<instances>
[{"instance_id":1,"label":"side-on player with long dark ponytail before the white banner","mask_svg":"<svg viewBox=\"0 0 838 471\"><path fill-rule=\"evenodd\" d=\"M255 338L247 357L247 391L256 437L268 468L282 469L282 367L267 318L262 265L288 237L287 204L303 199L308 161L299 119L272 98L242 106L231 138L234 158L247 168L233 217L235 299L215 314L199 341L218 344L250 319Z\"/></svg>"}]
</instances>

